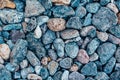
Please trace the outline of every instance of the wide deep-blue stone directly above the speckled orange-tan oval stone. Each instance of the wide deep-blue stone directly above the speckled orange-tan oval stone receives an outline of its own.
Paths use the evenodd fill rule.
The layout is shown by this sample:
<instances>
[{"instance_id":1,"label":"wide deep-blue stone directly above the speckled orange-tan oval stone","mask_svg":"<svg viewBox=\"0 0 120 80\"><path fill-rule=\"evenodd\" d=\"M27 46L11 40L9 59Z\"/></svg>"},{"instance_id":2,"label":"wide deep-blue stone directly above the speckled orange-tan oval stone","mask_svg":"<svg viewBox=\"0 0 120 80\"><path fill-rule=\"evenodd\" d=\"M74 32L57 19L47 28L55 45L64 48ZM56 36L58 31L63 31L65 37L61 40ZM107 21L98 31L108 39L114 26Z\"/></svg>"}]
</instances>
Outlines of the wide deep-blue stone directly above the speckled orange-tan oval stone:
<instances>
[{"instance_id":1,"label":"wide deep-blue stone directly above the speckled orange-tan oval stone","mask_svg":"<svg viewBox=\"0 0 120 80\"><path fill-rule=\"evenodd\" d=\"M52 11L54 17L68 17L75 14L73 8L66 5L55 6L52 8Z\"/></svg>"}]
</instances>

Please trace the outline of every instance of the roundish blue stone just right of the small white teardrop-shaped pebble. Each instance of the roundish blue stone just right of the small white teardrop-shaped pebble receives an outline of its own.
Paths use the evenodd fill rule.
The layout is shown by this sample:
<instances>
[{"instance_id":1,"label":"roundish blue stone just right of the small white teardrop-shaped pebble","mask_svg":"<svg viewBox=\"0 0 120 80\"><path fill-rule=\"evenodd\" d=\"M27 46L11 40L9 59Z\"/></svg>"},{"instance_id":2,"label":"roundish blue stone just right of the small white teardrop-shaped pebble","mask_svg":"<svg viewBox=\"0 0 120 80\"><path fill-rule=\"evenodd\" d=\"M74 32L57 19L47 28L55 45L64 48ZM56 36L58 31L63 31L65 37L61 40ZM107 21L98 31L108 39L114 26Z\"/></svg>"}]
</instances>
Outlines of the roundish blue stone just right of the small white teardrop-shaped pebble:
<instances>
[{"instance_id":1,"label":"roundish blue stone just right of the small white teardrop-shaped pebble","mask_svg":"<svg viewBox=\"0 0 120 80\"><path fill-rule=\"evenodd\" d=\"M55 32L51 30L47 30L45 34L43 34L42 41L44 44L50 44L56 38Z\"/></svg>"}]
</instances>

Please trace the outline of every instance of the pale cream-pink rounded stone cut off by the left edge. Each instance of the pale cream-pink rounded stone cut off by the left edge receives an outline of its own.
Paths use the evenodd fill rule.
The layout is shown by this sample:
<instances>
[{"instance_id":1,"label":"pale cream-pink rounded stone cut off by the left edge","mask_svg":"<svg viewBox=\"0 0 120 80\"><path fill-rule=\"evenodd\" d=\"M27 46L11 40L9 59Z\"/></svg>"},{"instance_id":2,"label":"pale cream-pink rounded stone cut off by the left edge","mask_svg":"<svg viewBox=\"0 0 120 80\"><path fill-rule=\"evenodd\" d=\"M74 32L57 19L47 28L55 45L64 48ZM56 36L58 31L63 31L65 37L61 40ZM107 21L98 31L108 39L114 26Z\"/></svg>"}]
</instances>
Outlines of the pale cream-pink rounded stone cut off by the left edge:
<instances>
[{"instance_id":1,"label":"pale cream-pink rounded stone cut off by the left edge","mask_svg":"<svg viewBox=\"0 0 120 80\"><path fill-rule=\"evenodd\" d=\"M5 60L9 59L10 52L11 52L11 50L7 44L5 44L5 43L0 44L0 56L3 59L5 59Z\"/></svg>"}]
</instances>

